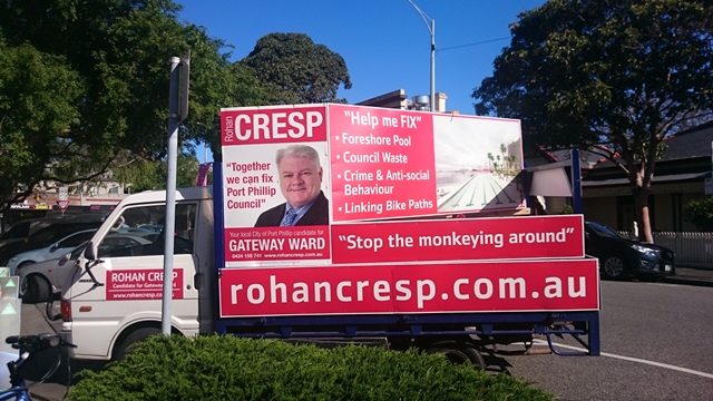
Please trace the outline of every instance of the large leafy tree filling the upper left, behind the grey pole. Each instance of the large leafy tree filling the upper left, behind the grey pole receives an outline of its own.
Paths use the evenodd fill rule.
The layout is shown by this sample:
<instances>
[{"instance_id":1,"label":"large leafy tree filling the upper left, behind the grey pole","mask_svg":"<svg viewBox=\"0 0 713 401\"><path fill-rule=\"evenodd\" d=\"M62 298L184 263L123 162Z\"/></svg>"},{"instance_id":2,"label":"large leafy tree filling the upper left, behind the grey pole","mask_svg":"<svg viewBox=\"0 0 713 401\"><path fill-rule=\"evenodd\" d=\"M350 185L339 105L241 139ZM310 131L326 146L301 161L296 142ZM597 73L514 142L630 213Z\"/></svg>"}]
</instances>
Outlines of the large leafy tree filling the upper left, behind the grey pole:
<instances>
[{"instance_id":1,"label":"large leafy tree filling the upper left, behind the grey pole","mask_svg":"<svg viewBox=\"0 0 713 401\"><path fill-rule=\"evenodd\" d=\"M170 0L0 2L0 212L42 180L101 176L118 155L164 158L169 58L188 49L183 147L205 141L218 153L219 108L262 102L262 89L222 41L179 23L178 10Z\"/></svg>"}]
</instances>

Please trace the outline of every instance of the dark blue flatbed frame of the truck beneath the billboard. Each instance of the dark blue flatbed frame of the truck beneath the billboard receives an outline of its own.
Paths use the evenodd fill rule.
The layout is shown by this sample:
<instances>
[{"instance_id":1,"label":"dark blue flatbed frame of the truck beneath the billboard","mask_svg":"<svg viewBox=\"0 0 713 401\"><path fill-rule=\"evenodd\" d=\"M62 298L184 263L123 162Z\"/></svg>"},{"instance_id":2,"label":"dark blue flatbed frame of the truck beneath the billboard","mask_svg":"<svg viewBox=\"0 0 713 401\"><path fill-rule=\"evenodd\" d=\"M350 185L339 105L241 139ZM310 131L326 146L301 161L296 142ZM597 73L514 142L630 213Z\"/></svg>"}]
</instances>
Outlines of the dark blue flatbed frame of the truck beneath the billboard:
<instances>
[{"instance_id":1,"label":"dark blue flatbed frame of the truck beneath the billboard","mask_svg":"<svg viewBox=\"0 0 713 401\"><path fill-rule=\"evenodd\" d=\"M215 166L215 236L219 238L224 231L223 179L219 163ZM217 241L216 266L225 265L224 255L223 242ZM216 275L219 277L221 268ZM214 285L218 286L217 281ZM217 309L215 315L221 315ZM445 352L449 358L465 355L476 364L482 362L482 353L489 352L491 345L522 343L529 348L534 336L545 336L550 351L558 355L600 354L598 311L218 317L214 325L219 334L244 338L329 343L375 341L399 350L417 346ZM569 338L584 351L565 351L557 346L554 338Z\"/></svg>"}]
</instances>

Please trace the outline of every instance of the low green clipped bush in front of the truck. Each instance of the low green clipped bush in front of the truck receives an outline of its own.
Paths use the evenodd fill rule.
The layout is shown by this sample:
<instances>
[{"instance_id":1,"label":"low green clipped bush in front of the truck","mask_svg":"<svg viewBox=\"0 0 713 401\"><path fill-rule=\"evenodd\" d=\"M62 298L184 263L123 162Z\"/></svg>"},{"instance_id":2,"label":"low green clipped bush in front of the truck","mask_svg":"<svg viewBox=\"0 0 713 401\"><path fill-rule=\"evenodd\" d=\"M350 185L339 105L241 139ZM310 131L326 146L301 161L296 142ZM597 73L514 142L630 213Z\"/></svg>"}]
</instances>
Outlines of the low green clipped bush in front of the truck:
<instances>
[{"instance_id":1,"label":"low green clipped bush in front of the truck","mask_svg":"<svg viewBox=\"0 0 713 401\"><path fill-rule=\"evenodd\" d=\"M551 400L440 354L235 336L154 336L85 371L69 400Z\"/></svg>"}]
</instances>

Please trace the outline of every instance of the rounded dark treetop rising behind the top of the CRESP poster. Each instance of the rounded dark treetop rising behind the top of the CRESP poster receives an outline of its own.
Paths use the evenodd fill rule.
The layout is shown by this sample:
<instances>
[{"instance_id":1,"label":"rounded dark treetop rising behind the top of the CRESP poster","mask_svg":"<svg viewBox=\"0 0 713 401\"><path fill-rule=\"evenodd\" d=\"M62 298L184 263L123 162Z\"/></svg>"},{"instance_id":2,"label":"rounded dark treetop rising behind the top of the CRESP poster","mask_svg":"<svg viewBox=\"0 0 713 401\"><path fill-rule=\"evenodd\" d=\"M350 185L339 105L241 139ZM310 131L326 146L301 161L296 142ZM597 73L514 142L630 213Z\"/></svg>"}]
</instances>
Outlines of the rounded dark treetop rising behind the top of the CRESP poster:
<instances>
[{"instance_id":1,"label":"rounded dark treetop rising behind the top of the CRESP poster","mask_svg":"<svg viewBox=\"0 0 713 401\"><path fill-rule=\"evenodd\" d=\"M263 82L273 105L344 101L340 85L352 87L342 57L303 33L271 33L261 38L241 65Z\"/></svg>"}]
</instances>

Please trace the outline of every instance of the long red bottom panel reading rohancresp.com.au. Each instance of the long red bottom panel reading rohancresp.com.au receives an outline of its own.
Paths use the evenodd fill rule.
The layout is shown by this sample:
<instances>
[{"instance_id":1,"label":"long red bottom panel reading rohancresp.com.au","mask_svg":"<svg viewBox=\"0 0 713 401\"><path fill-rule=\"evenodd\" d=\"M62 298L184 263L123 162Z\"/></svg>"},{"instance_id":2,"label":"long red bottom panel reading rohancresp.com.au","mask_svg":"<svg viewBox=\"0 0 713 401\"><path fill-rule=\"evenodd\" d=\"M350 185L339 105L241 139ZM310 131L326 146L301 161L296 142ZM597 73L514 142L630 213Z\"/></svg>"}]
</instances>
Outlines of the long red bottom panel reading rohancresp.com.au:
<instances>
[{"instance_id":1,"label":"long red bottom panel reading rohancresp.com.au","mask_svg":"<svg viewBox=\"0 0 713 401\"><path fill-rule=\"evenodd\" d=\"M224 268L221 317L596 311L596 260Z\"/></svg>"}]
</instances>

